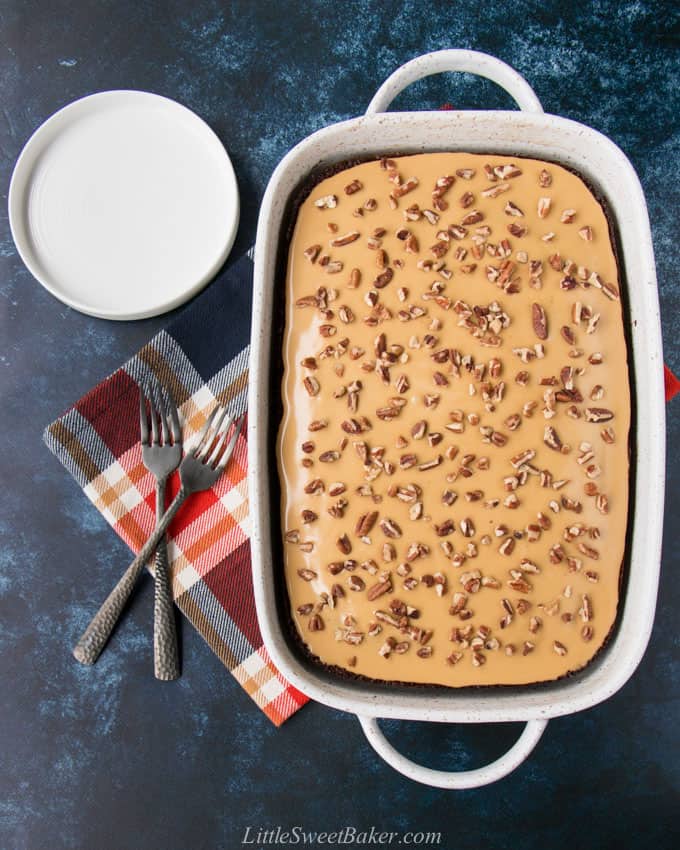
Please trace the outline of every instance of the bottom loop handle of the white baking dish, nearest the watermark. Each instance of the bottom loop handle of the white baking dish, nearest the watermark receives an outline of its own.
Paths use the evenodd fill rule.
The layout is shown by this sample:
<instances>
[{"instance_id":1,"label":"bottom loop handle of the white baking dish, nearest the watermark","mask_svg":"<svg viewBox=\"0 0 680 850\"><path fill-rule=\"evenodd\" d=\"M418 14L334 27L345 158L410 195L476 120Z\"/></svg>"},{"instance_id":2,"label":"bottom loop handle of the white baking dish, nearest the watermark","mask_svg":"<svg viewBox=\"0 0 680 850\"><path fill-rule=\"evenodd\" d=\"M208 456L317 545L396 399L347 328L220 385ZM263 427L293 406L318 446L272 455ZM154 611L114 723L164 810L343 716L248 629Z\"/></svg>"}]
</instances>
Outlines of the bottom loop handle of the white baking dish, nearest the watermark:
<instances>
[{"instance_id":1,"label":"bottom loop handle of the white baking dish, nearest the watermark","mask_svg":"<svg viewBox=\"0 0 680 850\"><path fill-rule=\"evenodd\" d=\"M475 770L455 772L433 770L407 759L389 743L378 725L377 718L359 716L359 722L368 738L368 743L390 767L415 782L421 782L423 785L430 785L433 788L449 790L480 788L482 785L490 785L492 782L512 773L531 753L548 725L547 720L528 720L524 731L515 744L499 759Z\"/></svg>"}]
</instances>

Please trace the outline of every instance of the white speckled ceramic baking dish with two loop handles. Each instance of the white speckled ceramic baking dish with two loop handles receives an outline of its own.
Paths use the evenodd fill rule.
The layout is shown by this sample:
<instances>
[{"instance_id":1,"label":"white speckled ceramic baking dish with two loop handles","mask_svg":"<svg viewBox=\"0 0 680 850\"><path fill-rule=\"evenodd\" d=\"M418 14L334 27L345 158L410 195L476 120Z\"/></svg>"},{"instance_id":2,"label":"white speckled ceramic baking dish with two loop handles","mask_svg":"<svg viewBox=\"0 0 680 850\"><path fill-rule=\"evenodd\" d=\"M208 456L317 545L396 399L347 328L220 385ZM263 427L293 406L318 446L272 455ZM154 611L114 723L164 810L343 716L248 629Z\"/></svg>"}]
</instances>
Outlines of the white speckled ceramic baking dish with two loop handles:
<instances>
[{"instance_id":1,"label":"white speckled ceramic baking dish with two loop handles","mask_svg":"<svg viewBox=\"0 0 680 850\"><path fill-rule=\"evenodd\" d=\"M466 71L503 86L521 108L512 111L438 111L384 114L408 84L441 71ZM612 638L581 673L529 688L423 691L371 686L333 678L300 657L288 637L277 582L282 564L280 526L272 505L270 383L277 252L286 207L301 181L320 165L375 154L437 150L508 153L553 160L582 174L606 199L619 237L622 288L632 343L635 416L632 436L631 527L621 611ZM551 717L590 708L615 693L632 675L652 628L660 566L664 492L664 392L659 304L652 238L642 188L632 165L609 139L575 121L544 114L527 82L485 54L444 50L399 68L378 90L366 114L326 127L302 141L280 162L262 202L255 248L250 357L249 487L255 600L265 645L279 670L312 699L352 712L374 749L406 776L441 788L493 782L531 752ZM275 472L274 472L275 474ZM276 544L276 545L273 545ZM278 574L278 578L277 578ZM376 718L447 723L523 721L517 743L477 770L446 772L421 767L399 754Z\"/></svg>"}]
</instances>

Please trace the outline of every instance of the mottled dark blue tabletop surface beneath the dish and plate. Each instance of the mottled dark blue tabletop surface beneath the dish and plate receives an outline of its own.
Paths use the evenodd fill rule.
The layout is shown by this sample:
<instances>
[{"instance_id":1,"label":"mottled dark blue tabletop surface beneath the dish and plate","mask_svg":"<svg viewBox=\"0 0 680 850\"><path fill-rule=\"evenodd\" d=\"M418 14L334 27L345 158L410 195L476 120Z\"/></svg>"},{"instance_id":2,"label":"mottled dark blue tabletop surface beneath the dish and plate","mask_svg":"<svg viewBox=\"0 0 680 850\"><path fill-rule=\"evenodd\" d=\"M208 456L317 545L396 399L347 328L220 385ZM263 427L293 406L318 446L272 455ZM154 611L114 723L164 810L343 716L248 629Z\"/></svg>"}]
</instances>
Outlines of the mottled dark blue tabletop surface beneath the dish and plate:
<instances>
[{"instance_id":1,"label":"mottled dark blue tabletop surface beneath the dish and plate","mask_svg":"<svg viewBox=\"0 0 680 850\"><path fill-rule=\"evenodd\" d=\"M569 11L569 8L577 11ZM153 679L148 580L94 669L70 647L128 551L42 446L42 428L164 322L107 323L48 295L6 218L13 163L57 108L112 88L185 103L224 141L253 240L278 160L359 114L398 65L473 47L512 64L546 111L610 136L647 195L666 359L680 372L680 30L668 2L52 2L0 7L0 846L236 848L246 825L437 829L441 846L665 848L677 822L678 402L671 406L665 551L656 626L632 680L555 720L530 760L483 790L415 785L384 766L357 721L310 705L275 729L190 628L184 675ZM411 87L397 108L505 108L468 77ZM630 281L635 286L636 281ZM224 317L225 332L228 317ZM512 725L390 724L438 767L499 755Z\"/></svg>"}]
</instances>

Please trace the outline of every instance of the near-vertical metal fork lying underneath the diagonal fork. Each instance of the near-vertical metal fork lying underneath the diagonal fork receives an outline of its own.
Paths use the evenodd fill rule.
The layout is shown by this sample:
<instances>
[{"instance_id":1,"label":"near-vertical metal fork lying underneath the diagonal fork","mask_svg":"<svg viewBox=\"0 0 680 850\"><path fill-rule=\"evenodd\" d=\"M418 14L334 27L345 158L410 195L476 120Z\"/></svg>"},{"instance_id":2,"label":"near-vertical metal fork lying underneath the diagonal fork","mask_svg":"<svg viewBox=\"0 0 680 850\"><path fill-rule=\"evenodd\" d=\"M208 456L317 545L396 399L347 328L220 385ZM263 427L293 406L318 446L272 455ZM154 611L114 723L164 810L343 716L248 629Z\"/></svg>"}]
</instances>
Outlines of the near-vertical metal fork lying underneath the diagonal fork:
<instances>
[{"instance_id":1,"label":"near-vertical metal fork lying underneath the diagonal fork","mask_svg":"<svg viewBox=\"0 0 680 850\"><path fill-rule=\"evenodd\" d=\"M151 420L150 435L146 417L147 398ZM165 513L165 485L168 476L177 469L182 460L182 431L179 427L177 408L169 393L167 398L164 398L164 393L158 385L147 390L146 398L143 388L139 389L139 430L144 466L156 478L156 521L158 521ZM170 441L171 433L172 442ZM150 440L149 437L151 437ZM157 679L170 682L179 678L180 671L165 535L156 548L153 615L154 673Z\"/></svg>"}]
</instances>

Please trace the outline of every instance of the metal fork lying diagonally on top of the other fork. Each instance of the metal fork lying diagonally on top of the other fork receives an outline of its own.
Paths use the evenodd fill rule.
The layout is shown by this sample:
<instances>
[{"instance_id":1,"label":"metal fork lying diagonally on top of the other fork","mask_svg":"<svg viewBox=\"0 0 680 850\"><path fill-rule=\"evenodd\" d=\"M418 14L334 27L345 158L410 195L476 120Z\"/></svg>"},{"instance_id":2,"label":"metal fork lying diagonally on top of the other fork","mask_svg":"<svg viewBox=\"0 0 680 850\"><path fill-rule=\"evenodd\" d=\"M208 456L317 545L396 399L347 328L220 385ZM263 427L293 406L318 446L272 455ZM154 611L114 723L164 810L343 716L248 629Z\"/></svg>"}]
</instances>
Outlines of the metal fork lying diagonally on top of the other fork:
<instances>
[{"instance_id":1,"label":"metal fork lying diagonally on top of the other fork","mask_svg":"<svg viewBox=\"0 0 680 850\"><path fill-rule=\"evenodd\" d=\"M245 414L238 420L228 415L226 408L213 408L208 416L196 447L188 452L179 466L180 488L170 507L156 524L151 537L127 568L118 584L105 599L73 649L81 664L94 664L125 607L144 565L182 503L192 493L207 490L217 481L229 463L236 441L245 422ZM233 425L233 429L232 429ZM231 436L230 435L231 432Z\"/></svg>"}]
</instances>

